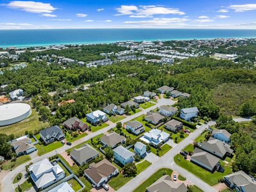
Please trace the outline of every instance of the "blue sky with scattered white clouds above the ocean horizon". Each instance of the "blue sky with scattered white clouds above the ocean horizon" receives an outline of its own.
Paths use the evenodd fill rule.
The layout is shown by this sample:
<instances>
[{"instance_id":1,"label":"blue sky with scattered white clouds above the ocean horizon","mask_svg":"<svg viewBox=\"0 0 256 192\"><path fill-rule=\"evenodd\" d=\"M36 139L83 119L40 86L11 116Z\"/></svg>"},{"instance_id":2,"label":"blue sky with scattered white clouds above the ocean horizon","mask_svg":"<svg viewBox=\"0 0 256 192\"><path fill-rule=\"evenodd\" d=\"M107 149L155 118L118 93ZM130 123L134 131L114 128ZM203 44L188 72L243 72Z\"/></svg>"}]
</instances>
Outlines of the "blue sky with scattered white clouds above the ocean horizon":
<instances>
[{"instance_id":1,"label":"blue sky with scattered white clouds above the ocean horizon","mask_svg":"<svg viewBox=\"0 0 256 192\"><path fill-rule=\"evenodd\" d=\"M256 29L255 18L256 0L0 0L0 29Z\"/></svg>"}]
</instances>

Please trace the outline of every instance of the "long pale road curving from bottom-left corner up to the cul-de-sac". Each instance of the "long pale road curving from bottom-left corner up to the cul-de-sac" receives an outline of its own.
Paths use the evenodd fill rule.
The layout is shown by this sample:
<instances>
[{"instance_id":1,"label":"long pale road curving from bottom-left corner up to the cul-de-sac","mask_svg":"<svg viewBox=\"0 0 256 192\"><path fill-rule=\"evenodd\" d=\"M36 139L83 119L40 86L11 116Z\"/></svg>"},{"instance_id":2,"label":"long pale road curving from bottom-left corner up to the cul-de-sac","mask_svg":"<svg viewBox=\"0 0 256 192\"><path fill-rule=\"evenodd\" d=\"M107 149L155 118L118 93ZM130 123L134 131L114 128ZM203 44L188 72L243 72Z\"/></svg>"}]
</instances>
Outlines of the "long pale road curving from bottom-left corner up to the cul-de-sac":
<instances>
[{"instance_id":1,"label":"long pale road curving from bottom-left corner up to the cul-de-sac","mask_svg":"<svg viewBox=\"0 0 256 192\"><path fill-rule=\"evenodd\" d=\"M174 104L174 101L172 101L171 99L159 99L158 102L156 103L155 106L152 106L152 107L149 107L147 109L144 109L142 111L140 111L139 113L137 114L134 114L134 115L131 115L131 116L128 116L126 117L125 119L122 119L122 121L120 121L121 123L125 123L127 121L130 121L131 119L133 118L136 118L136 117L139 117L140 115L143 115L143 114L146 114L148 113L150 110L153 110L157 107L161 107L163 105L173 105ZM14 191L14 187L12 185L12 181L14 179L14 177L25 170L25 165L29 164L29 163L36 163L38 161L41 161L42 159L44 158L48 158L48 157L51 157L55 154L60 154L61 152L71 148L71 147L74 147L82 142L85 142L87 140L90 140L91 138L94 138L95 136L101 134L101 133L105 133L107 131L109 131L110 129L114 128L116 126L116 123L114 124L111 124L107 127L104 127L103 129L97 131L97 132L94 132L94 133L91 133L89 135L86 135L85 137L81 138L81 139L78 139L74 142L72 142L72 146L68 146L68 145L63 145L63 147L60 147L58 148L57 150L53 150L47 154L44 154L42 156L39 156L39 157L36 157L34 159L31 159L29 162L25 163L25 164L22 164L22 165L19 165L18 167L16 167L13 171L9 172L7 175L5 175L2 183L1 183L1 191L4 191L4 192L13 192Z\"/></svg>"}]
</instances>

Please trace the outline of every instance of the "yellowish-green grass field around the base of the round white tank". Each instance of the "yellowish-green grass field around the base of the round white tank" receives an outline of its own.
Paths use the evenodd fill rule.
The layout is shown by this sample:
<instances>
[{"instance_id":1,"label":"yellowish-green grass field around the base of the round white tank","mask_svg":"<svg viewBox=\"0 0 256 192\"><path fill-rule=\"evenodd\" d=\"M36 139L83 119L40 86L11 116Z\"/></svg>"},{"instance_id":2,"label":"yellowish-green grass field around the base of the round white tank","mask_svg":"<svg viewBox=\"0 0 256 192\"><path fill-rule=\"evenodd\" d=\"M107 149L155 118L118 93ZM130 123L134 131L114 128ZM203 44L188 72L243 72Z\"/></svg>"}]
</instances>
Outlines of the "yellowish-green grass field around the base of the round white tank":
<instances>
[{"instance_id":1,"label":"yellowish-green grass field around the base of the round white tank","mask_svg":"<svg viewBox=\"0 0 256 192\"><path fill-rule=\"evenodd\" d=\"M21 122L14 123L12 125L1 126L0 133L14 134L14 135L24 135L25 131L39 130L42 127L49 127L49 123L41 122L38 120L39 115L35 109L31 109L32 113L29 117L24 119Z\"/></svg>"}]
</instances>

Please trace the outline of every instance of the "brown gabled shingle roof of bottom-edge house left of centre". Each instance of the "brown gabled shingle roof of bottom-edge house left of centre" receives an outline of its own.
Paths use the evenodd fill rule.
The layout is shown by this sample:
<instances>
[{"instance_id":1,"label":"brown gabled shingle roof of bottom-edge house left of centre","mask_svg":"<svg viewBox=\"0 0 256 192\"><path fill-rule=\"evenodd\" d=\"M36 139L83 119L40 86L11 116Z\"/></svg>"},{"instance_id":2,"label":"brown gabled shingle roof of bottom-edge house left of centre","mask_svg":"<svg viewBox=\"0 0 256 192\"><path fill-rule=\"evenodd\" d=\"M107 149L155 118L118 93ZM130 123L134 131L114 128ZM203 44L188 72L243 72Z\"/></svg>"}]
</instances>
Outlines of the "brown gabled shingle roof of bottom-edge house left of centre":
<instances>
[{"instance_id":1,"label":"brown gabled shingle roof of bottom-edge house left of centre","mask_svg":"<svg viewBox=\"0 0 256 192\"><path fill-rule=\"evenodd\" d=\"M117 167L107 159L102 159L99 163L91 163L90 168L84 171L95 183L99 183L102 178L107 178L114 173Z\"/></svg>"}]
</instances>

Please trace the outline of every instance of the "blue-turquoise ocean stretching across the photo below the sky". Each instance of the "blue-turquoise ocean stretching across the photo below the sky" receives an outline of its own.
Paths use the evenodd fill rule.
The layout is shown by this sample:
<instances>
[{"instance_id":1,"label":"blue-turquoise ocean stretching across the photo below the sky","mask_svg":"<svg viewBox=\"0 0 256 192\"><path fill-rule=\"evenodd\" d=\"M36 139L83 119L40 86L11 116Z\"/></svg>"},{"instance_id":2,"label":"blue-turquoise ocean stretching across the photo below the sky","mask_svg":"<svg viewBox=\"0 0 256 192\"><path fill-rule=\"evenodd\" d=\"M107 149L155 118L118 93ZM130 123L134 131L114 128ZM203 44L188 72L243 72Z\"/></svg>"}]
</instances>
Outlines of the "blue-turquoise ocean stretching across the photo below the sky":
<instances>
[{"instance_id":1,"label":"blue-turquoise ocean stretching across the photo below the sky","mask_svg":"<svg viewBox=\"0 0 256 192\"><path fill-rule=\"evenodd\" d=\"M113 43L208 38L254 38L256 30L240 29L30 29L0 30L0 47Z\"/></svg>"}]
</instances>

